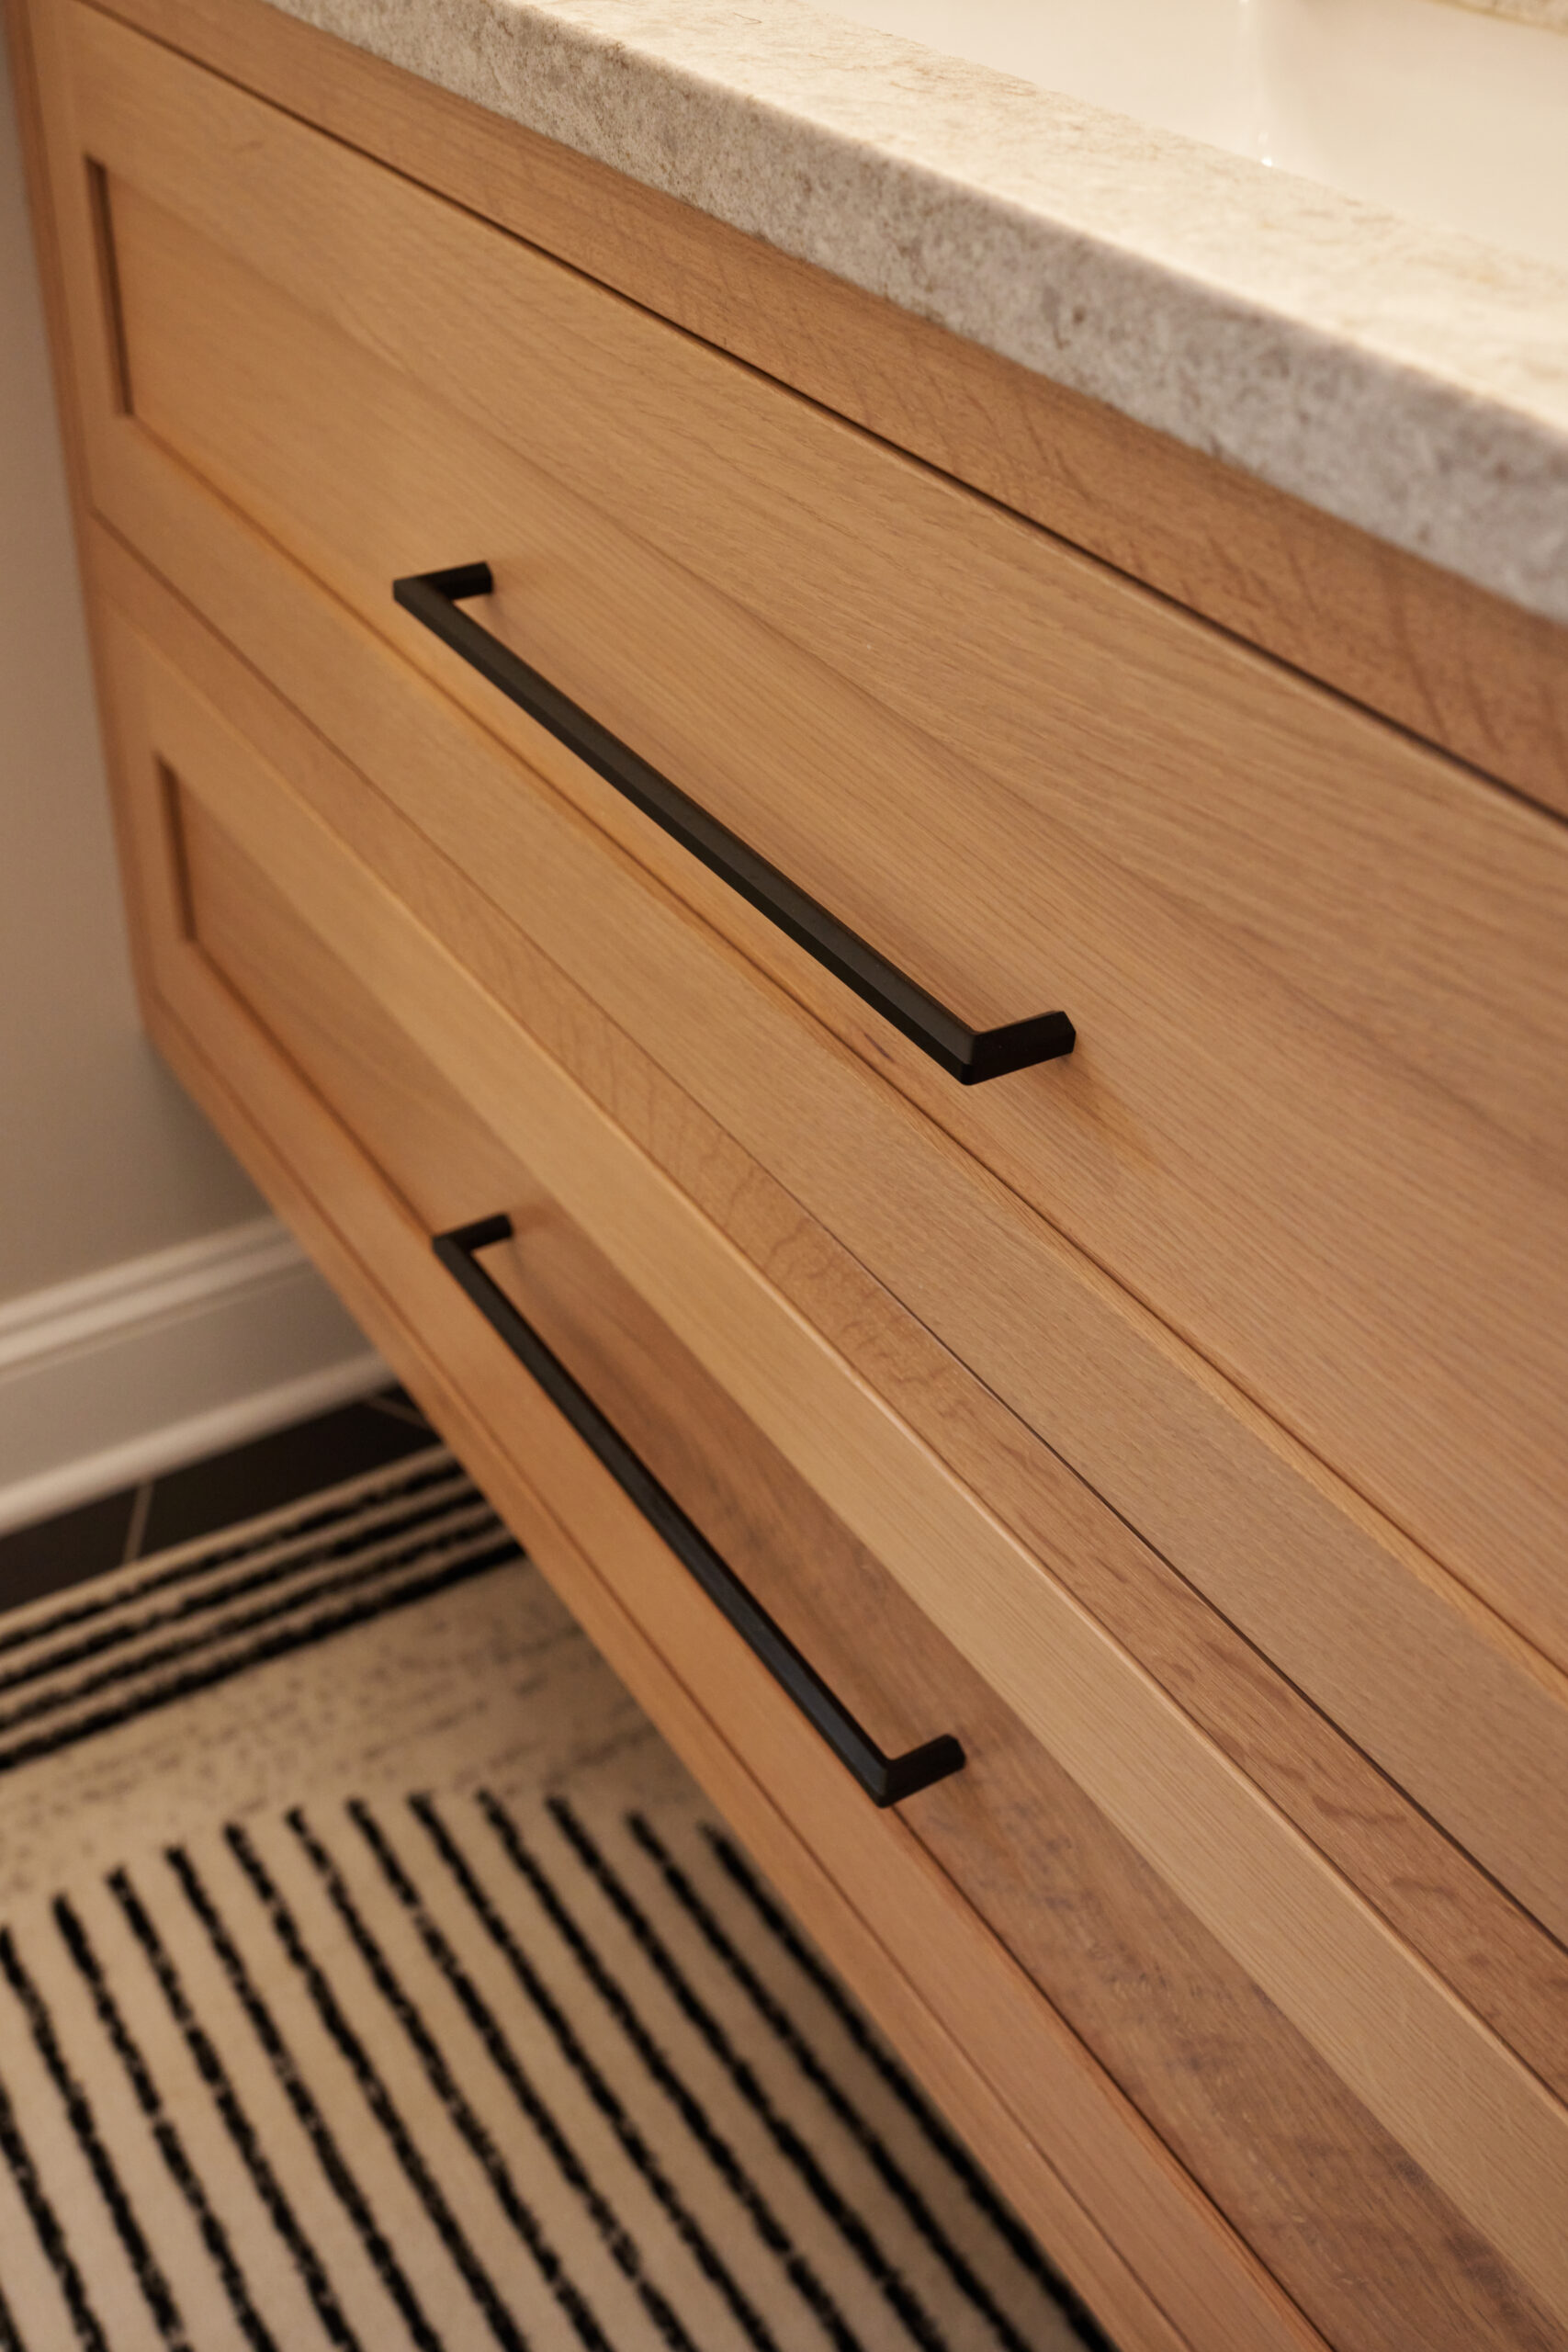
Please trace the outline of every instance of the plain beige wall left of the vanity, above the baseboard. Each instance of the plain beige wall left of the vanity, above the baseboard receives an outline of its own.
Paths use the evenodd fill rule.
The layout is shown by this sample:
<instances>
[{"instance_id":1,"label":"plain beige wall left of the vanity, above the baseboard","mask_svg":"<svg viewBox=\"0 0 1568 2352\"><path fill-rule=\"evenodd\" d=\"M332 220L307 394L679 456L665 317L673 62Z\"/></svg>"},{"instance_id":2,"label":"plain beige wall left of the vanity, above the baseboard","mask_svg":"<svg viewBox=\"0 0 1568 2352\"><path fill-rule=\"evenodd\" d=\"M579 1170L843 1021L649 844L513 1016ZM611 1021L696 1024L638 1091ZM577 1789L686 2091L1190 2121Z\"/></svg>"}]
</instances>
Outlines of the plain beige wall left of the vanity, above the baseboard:
<instances>
[{"instance_id":1,"label":"plain beige wall left of the vanity, above the baseboard","mask_svg":"<svg viewBox=\"0 0 1568 2352\"><path fill-rule=\"evenodd\" d=\"M136 1018L0 80L0 1303L259 1214Z\"/></svg>"}]
</instances>

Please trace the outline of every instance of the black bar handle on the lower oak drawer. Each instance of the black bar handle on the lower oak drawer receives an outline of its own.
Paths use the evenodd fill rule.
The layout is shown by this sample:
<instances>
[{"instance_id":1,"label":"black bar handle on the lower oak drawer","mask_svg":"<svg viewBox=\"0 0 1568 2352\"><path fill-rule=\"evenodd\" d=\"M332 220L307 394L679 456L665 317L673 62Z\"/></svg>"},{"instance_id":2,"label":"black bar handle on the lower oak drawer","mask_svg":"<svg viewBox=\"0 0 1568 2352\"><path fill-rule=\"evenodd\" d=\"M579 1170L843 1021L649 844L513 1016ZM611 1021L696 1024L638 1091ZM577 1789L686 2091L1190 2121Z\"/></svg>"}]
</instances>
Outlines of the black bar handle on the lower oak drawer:
<instances>
[{"instance_id":1,"label":"black bar handle on the lower oak drawer","mask_svg":"<svg viewBox=\"0 0 1568 2352\"><path fill-rule=\"evenodd\" d=\"M435 1256L447 1272L461 1282L484 1319L501 1334L517 1362L529 1371L550 1402L567 1416L571 1428L599 1456L623 1494L632 1498L656 1536L670 1545L684 1569L696 1576L708 1599L717 1602L729 1623L762 1658L773 1682L795 1700L806 1722L823 1733L839 1764L846 1764L872 1804L898 1804L933 1780L945 1780L964 1764L964 1750L950 1736L910 1748L903 1757L889 1757L860 1729L853 1715L839 1705L816 1668L802 1658L795 1642L773 1623L741 1578L715 1552L698 1526L691 1524L675 1496L665 1494L654 1472L642 1463L618 1430L609 1425L585 1388L571 1378L557 1355L527 1322L501 1284L477 1263L477 1251L494 1242L510 1242L510 1216L487 1216L475 1225L458 1225L454 1232L435 1235Z\"/></svg>"}]
</instances>

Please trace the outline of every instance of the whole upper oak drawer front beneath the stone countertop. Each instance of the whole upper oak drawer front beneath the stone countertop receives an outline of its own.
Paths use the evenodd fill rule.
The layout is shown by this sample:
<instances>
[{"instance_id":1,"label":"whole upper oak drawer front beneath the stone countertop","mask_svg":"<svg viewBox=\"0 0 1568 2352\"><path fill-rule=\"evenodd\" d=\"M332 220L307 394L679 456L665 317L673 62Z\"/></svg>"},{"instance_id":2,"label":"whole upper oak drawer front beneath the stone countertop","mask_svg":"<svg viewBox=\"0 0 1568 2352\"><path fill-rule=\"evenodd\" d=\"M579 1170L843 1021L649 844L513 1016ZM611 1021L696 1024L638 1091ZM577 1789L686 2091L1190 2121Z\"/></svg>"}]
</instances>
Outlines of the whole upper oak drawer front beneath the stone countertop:
<instances>
[{"instance_id":1,"label":"whole upper oak drawer front beneath the stone countertop","mask_svg":"<svg viewBox=\"0 0 1568 2352\"><path fill-rule=\"evenodd\" d=\"M1566 1684L1528 1644L1554 1651L1563 1606L1563 828L101 12L59 24L99 510L1568 1933ZM334 590L308 633L235 510ZM393 607L400 572L463 548L494 560L491 635L973 1025L1077 1007L1072 1058L959 1087L867 1014ZM827 609L839 574L863 628L839 607L811 635L811 581ZM947 675L947 607L1016 659L1063 637L1030 755L1018 680L992 677L992 771L973 727L938 741L907 708L914 670ZM522 793L496 739L559 797ZM1119 863L1088 802L1138 833ZM1225 1296L1333 1425L1305 1392L1251 1414L1274 1374L1237 1355ZM1460 1576L1432 1573L1422 1512Z\"/></svg>"}]
</instances>

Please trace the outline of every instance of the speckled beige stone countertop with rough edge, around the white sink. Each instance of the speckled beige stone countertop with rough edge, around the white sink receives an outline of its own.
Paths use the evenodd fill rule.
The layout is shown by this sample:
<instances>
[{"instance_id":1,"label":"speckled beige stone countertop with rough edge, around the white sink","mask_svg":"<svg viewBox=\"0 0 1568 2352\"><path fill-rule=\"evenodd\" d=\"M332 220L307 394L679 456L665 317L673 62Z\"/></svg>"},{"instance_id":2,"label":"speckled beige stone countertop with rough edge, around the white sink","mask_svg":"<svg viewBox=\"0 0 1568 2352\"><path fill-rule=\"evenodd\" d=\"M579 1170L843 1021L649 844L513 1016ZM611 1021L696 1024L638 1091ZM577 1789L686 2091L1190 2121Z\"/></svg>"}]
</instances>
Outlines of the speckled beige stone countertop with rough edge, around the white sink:
<instances>
[{"instance_id":1,"label":"speckled beige stone countertop with rough edge, around the white sink","mask_svg":"<svg viewBox=\"0 0 1568 2352\"><path fill-rule=\"evenodd\" d=\"M1568 621L1568 270L806 0L275 0Z\"/></svg>"}]
</instances>

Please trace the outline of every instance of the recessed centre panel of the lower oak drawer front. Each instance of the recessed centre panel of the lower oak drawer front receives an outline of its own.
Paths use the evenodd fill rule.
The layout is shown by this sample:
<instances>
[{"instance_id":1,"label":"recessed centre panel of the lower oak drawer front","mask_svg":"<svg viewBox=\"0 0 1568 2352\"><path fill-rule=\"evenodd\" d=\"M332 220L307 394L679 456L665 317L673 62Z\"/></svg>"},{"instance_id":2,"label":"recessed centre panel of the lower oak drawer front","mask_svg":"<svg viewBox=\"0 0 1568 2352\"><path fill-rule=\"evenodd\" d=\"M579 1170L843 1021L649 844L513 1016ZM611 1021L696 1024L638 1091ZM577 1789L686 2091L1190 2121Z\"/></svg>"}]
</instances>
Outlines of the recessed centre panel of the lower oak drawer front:
<instances>
[{"instance_id":1,"label":"recessed centre panel of the lower oak drawer front","mask_svg":"<svg viewBox=\"0 0 1568 2352\"><path fill-rule=\"evenodd\" d=\"M903 1820L1112 2072L1126 2086L1135 2079L1143 2112L1328 2338L1368 2352L1415 2340L1455 2352L1476 2338L1554 2343L1488 2249L889 1590L564 1211L524 1169L508 1178L496 1167L494 1138L200 804L188 870L207 957L329 1101L346 1089L369 1110L421 1225L470 1214L484 1185L512 1211L517 1242L496 1254L508 1291L830 1682L884 1740L919 1736L933 1705L957 1724L966 1773L905 1806ZM846 1788L842 1802L853 1804Z\"/></svg>"}]
</instances>

